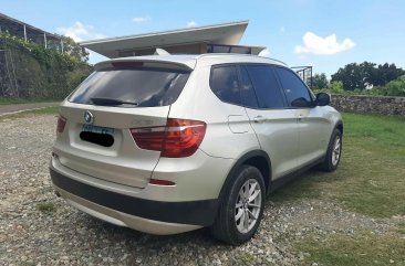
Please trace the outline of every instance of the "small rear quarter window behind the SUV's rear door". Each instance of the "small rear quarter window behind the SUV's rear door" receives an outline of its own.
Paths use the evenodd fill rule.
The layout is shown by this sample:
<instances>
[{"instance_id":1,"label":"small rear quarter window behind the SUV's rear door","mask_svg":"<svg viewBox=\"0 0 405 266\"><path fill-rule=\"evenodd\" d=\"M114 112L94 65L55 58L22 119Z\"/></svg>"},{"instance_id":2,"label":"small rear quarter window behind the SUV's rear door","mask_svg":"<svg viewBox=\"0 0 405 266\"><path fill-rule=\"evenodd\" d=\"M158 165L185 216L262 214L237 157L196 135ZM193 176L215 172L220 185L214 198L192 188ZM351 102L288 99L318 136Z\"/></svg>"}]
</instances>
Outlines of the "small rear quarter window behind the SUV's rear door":
<instances>
[{"instance_id":1,"label":"small rear quarter window behind the SUV's rear door","mask_svg":"<svg viewBox=\"0 0 405 266\"><path fill-rule=\"evenodd\" d=\"M240 105L238 72L235 65L214 66L210 86L222 102Z\"/></svg>"}]
</instances>

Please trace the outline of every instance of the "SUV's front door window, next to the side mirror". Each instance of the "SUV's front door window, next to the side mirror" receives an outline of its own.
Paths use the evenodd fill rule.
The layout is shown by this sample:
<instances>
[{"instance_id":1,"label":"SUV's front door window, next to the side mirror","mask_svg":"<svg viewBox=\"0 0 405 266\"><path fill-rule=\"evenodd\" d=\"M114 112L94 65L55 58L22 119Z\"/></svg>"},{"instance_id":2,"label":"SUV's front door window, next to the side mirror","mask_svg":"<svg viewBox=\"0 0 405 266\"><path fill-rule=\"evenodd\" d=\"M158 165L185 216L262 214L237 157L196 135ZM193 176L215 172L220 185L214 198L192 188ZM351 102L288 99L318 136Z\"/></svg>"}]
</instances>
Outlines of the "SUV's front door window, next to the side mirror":
<instances>
[{"instance_id":1,"label":"SUV's front door window, next to the side mirror","mask_svg":"<svg viewBox=\"0 0 405 266\"><path fill-rule=\"evenodd\" d=\"M305 107L312 102L310 92L304 83L292 71L276 67L282 88L290 106Z\"/></svg>"}]
</instances>

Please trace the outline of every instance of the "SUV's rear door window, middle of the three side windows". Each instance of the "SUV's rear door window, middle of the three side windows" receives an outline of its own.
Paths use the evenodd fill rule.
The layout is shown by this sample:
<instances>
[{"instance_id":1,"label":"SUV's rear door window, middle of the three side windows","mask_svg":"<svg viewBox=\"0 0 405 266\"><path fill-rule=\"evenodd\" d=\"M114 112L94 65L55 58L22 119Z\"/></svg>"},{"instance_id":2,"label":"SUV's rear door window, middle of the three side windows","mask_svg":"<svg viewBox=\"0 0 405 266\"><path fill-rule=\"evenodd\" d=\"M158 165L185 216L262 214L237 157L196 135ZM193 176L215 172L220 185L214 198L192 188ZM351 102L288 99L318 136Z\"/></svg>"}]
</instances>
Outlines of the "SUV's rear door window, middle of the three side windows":
<instances>
[{"instance_id":1,"label":"SUV's rear door window, middle of the three side windows","mask_svg":"<svg viewBox=\"0 0 405 266\"><path fill-rule=\"evenodd\" d=\"M253 84L259 108L283 108L284 100L270 65L246 65Z\"/></svg>"}]
</instances>

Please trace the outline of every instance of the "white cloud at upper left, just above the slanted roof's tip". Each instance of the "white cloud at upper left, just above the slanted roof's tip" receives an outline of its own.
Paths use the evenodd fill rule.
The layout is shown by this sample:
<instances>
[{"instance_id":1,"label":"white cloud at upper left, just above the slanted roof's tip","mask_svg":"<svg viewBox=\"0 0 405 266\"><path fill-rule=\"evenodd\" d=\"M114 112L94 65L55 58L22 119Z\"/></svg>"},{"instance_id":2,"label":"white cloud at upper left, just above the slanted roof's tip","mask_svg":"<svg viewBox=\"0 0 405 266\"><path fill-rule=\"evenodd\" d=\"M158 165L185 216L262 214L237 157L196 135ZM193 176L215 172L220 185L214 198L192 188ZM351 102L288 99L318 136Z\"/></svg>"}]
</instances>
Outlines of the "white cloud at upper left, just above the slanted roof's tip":
<instances>
[{"instance_id":1,"label":"white cloud at upper left, just above the slanted roof's tip","mask_svg":"<svg viewBox=\"0 0 405 266\"><path fill-rule=\"evenodd\" d=\"M76 42L107 38L102 33L94 32L93 25L85 25L80 21L74 22L71 26L60 26L56 29L56 32L70 36Z\"/></svg>"}]
</instances>

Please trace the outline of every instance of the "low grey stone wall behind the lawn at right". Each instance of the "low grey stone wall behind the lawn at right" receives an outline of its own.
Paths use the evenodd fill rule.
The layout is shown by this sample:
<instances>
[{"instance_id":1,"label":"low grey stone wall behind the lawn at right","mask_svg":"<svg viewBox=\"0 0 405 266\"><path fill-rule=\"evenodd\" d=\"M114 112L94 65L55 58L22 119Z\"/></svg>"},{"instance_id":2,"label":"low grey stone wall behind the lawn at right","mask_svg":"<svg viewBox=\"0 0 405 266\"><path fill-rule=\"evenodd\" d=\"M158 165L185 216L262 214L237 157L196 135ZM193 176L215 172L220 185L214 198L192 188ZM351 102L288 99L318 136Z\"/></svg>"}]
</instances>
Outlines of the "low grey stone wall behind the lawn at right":
<instances>
[{"instance_id":1,"label":"low grey stone wall behind the lawn at right","mask_svg":"<svg viewBox=\"0 0 405 266\"><path fill-rule=\"evenodd\" d=\"M331 106L341 111L405 116L405 97L334 94Z\"/></svg>"}]
</instances>

